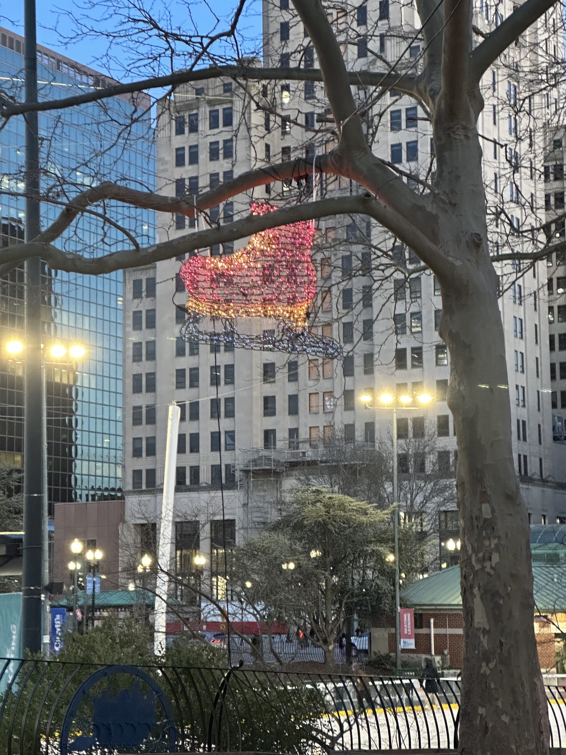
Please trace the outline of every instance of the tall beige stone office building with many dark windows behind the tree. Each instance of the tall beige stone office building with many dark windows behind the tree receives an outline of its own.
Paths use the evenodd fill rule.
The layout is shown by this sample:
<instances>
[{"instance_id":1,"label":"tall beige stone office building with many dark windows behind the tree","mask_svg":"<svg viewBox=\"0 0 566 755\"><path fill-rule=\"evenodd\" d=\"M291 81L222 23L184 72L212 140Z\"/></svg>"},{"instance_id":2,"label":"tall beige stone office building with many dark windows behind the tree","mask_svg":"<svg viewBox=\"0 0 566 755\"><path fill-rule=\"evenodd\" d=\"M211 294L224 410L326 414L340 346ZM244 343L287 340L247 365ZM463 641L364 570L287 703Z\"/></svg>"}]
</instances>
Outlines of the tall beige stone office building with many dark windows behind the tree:
<instances>
[{"instance_id":1,"label":"tall beige stone office building with many dark windows behind the tree","mask_svg":"<svg viewBox=\"0 0 566 755\"><path fill-rule=\"evenodd\" d=\"M511 11L510 2L493 7L481 2L475 9L475 26L488 33L500 23L502 14ZM407 43L419 23L413 8L369 0L360 8L329 7L328 18L349 69L385 70L383 58L397 61L399 70L420 65L422 40L417 37ZM542 40L551 22L550 15L541 19L525 39L529 43ZM377 49L379 57L371 52ZM542 49L543 45L540 56ZM494 254L508 251L509 245L523 251L531 248L530 233L524 238L515 231L537 226L543 207L538 176L542 135L533 130L532 116L537 113L542 128L545 120L555 117L555 106L558 109L554 99L547 102L546 95L521 90L524 82L518 81L515 72L518 54L521 48L511 48L486 72L481 84L486 105L479 131ZM534 61L534 68L543 62ZM287 0L277 5L263 3L263 65L317 65L308 36ZM324 128L328 108L321 84L250 82L248 91L249 97L239 88L232 91L229 81L211 80L187 85L174 100L163 103L157 140L158 190L191 196L245 170L305 154L312 159L334 146L334 137ZM368 92L359 87L355 96L362 104ZM379 128L371 134L368 130L374 153L400 168L409 186L420 190L416 179L429 176L435 167L426 113L396 91L384 94L376 107L386 112ZM312 191L308 183L272 181L223 208L213 208L211 218L228 223L233 214L246 210L252 197L276 204L305 190ZM359 190L337 177L325 178L319 189L328 196ZM506 233L497 207L506 211L511 233ZM158 220L159 239L189 230L189 222L181 216ZM389 257L381 254L383 249ZM226 254L231 248L201 253L221 251ZM188 561L179 554L201 550L209 559L214 587L218 549L253 535L275 519L285 505L285 493L304 478L306 467L325 463L333 438L340 436L345 446L366 447L387 439L390 414L365 408L361 394L378 396L385 390L431 394L435 400L426 409L399 411L399 470L401 475L454 476L454 423L445 400L450 365L438 337L441 297L434 277L426 270L408 279L396 272L395 264L411 270L420 262L365 217L335 217L318 223L313 260L318 296L309 325L340 341L343 359L336 361L226 347L215 354L207 344L185 344L179 337L184 316L171 302L183 260L168 260L126 276L125 368L131 379L125 384L125 532L135 547L143 548L150 541L147 533L155 526L163 482L166 407L171 400L180 402L175 499L180 578ZM559 484L563 469L553 458L546 264L539 262L525 273L518 265L499 263L497 272L515 467L531 520L555 521L566 516L566 496ZM158 287L155 300L147 301L144 279L145 290L148 281L155 279L170 283ZM149 283L149 290L152 287ZM180 304L182 289L176 294ZM155 332L162 334L156 346ZM158 355L149 364L144 356L148 344L150 353L155 354L156 348ZM221 405L216 402L217 388ZM418 458L405 455L402 442L418 439L431 427L437 438L434 450ZM229 488L225 504L230 542L226 543L218 537L220 479L225 491ZM456 534L454 505L435 511L434 516L438 516L441 538L445 535L448 540ZM186 537L185 532L192 534ZM440 556L442 563L449 553L441 550Z\"/></svg>"}]
</instances>

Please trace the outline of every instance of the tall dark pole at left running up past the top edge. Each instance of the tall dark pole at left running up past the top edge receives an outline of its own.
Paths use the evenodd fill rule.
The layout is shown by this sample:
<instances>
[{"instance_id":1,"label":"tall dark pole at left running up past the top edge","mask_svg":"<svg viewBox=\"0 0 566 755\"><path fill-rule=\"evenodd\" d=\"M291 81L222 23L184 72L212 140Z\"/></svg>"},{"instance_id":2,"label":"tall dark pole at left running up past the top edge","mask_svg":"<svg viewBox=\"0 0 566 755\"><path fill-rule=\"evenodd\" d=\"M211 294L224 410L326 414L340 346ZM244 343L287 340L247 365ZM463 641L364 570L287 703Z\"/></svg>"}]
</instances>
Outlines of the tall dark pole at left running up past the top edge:
<instances>
[{"instance_id":1,"label":"tall dark pole at left running up past the top edge","mask_svg":"<svg viewBox=\"0 0 566 755\"><path fill-rule=\"evenodd\" d=\"M26 103L37 102L35 0L24 0ZM26 242L40 232L38 114L26 123ZM41 260L26 260L23 396L22 652L42 648L42 307Z\"/></svg>"}]
</instances>

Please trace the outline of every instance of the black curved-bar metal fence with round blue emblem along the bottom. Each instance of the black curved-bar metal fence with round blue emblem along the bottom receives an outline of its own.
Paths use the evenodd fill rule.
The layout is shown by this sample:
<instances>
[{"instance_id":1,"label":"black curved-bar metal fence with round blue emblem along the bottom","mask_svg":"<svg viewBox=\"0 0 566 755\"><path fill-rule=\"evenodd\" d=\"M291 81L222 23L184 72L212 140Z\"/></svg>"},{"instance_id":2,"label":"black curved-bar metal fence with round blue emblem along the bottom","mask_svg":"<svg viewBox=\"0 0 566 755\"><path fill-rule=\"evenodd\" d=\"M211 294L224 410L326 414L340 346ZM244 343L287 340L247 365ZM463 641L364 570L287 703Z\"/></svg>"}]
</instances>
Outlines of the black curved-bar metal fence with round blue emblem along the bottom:
<instances>
[{"instance_id":1,"label":"black curved-bar metal fence with round blue emblem along the bottom","mask_svg":"<svg viewBox=\"0 0 566 755\"><path fill-rule=\"evenodd\" d=\"M457 747L454 679L434 690L414 678L342 673L0 663L3 755ZM562 747L565 690L546 689L551 744Z\"/></svg>"}]
</instances>

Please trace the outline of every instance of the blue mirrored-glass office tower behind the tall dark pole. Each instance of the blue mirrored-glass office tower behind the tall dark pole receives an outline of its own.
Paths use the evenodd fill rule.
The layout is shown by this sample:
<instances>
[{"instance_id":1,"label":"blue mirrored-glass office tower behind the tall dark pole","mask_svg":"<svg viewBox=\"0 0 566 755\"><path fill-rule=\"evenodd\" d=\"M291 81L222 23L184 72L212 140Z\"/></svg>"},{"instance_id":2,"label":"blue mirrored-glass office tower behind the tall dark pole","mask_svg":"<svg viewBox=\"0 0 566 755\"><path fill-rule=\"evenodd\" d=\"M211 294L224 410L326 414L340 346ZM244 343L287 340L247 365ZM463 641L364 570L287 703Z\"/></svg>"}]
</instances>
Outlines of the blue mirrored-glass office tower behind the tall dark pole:
<instances>
[{"instance_id":1,"label":"blue mirrored-glass office tower behind the tall dark pole","mask_svg":"<svg viewBox=\"0 0 566 755\"><path fill-rule=\"evenodd\" d=\"M40 99L56 99L104 85L93 69L38 45ZM23 38L0 29L2 91L23 99ZM147 97L118 97L39 114L42 227L69 198L102 180L137 188L154 185L153 131ZM137 118L137 120L136 120ZM128 124L132 121L131 126ZM11 119L0 134L2 209L0 244L23 240L24 122ZM100 210L99 208L94 208ZM149 211L109 203L109 217L145 245L155 220ZM129 245L125 234L95 214L83 214L57 239L66 251L97 256ZM23 266L0 279L0 463L20 469L23 456L23 356L5 344L23 341ZM44 267L43 331L47 382L48 497L54 530L55 575L66 578L69 541L94 541L105 553L103 568L117 560L122 517L122 272L81 276ZM85 357L51 357L55 342L81 344ZM113 528L113 534L109 532ZM113 567L115 570L115 566Z\"/></svg>"}]
</instances>

